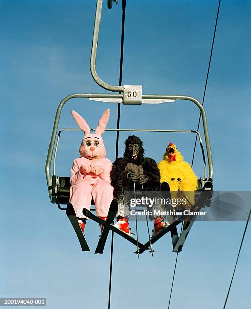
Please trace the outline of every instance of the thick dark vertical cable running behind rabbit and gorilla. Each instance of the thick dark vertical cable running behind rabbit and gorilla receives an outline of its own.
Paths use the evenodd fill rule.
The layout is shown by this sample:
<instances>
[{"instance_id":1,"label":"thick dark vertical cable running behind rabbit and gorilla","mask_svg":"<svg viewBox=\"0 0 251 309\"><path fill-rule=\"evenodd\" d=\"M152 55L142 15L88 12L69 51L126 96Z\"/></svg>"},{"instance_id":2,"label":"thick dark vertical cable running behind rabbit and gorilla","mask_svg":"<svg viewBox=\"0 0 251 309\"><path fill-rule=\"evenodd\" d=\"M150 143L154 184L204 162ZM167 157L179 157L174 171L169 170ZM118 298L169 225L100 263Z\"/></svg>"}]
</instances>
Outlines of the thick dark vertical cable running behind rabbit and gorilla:
<instances>
[{"instance_id":1,"label":"thick dark vertical cable running behind rabbit and gorilla","mask_svg":"<svg viewBox=\"0 0 251 309\"><path fill-rule=\"evenodd\" d=\"M123 71L123 54L124 54L124 35L125 35L125 9L126 9L126 0L122 0L122 23L121 23L121 44L120 44L120 68L119 68L119 86L122 85L122 71ZM121 94L121 92L119 92ZM117 129L120 127L120 107L121 104L118 104L117 112ZM119 130L116 132L116 153L115 158L118 158L118 149L119 149ZM108 291L108 309L110 309L111 304L111 288L112 288L112 268L113 268L113 239L114 232L112 231L111 236L111 254L110 254L110 274L109 274L109 291Z\"/></svg>"}]
</instances>

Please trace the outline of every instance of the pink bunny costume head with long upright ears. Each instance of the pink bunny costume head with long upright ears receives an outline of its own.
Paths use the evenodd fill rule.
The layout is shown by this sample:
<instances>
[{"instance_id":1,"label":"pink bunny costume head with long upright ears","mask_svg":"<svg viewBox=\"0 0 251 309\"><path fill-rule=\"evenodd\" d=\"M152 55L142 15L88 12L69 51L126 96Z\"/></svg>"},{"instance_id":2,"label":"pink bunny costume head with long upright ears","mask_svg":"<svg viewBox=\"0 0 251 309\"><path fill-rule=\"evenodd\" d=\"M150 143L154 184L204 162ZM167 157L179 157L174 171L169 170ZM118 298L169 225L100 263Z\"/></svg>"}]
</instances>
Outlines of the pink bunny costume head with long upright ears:
<instances>
[{"instance_id":1,"label":"pink bunny costume head with long upright ears","mask_svg":"<svg viewBox=\"0 0 251 309\"><path fill-rule=\"evenodd\" d=\"M95 133L90 133L90 128L86 121L75 111L72 111L72 116L80 129L84 132L84 138L79 148L81 157L92 159L104 158L106 149L104 146L102 133L106 129L109 120L110 109L107 109L99 119Z\"/></svg>"}]
</instances>

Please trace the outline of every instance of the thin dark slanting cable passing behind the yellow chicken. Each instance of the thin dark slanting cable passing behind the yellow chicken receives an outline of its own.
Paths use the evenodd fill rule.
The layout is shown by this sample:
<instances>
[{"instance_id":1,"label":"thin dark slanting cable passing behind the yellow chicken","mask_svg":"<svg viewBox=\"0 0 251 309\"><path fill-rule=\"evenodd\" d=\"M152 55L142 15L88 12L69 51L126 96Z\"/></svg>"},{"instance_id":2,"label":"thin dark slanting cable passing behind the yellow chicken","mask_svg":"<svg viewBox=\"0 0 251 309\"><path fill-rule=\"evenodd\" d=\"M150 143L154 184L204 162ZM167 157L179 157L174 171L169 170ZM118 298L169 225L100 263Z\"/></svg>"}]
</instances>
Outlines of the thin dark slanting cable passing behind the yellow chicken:
<instances>
[{"instance_id":1,"label":"thin dark slanting cable passing behind the yellow chicken","mask_svg":"<svg viewBox=\"0 0 251 309\"><path fill-rule=\"evenodd\" d=\"M205 99L205 94L206 94L206 89L207 89L208 76L209 76L209 71L210 71L210 65L211 65L212 55L213 55L214 41L215 41L215 35L216 35L216 29L217 29L217 23L218 23L218 16L219 16L219 11L220 11L220 4L221 4L221 0L219 0L218 9L217 9L217 14L216 14L216 19L215 19L214 35L213 35L213 41L212 41L212 46L211 46L211 52L210 52L210 58L209 58L209 64L208 64L208 71L207 71L206 82L205 82L205 87L204 87L202 105L204 105L204 99ZM198 121L197 131L199 130L201 118L202 118L202 114L200 113L200 114L199 114L199 121ZM196 144L197 144L197 136L196 136L196 139L195 139L195 144L194 144L194 149L193 149L192 164L191 164L191 166L193 166ZM250 216L250 214L249 214L249 216ZM247 221L247 222L248 222L248 221ZM182 227L181 227L181 228L182 228ZM242 240L242 241L243 241L243 240ZM168 309L169 309L169 307L170 307L171 296L172 296L172 291L173 291L173 283L174 283L174 277L175 277L175 272L176 272L177 259L178 259L178 253L177 253L177 255L176 255L176 260L175 260L175 266L174 266L173 280L172 280L172 285L171 285L171 290L170 290L170 297L169 297ZM236 262L236 263L237 263L237 262ZM231 283L232 283L232 282L231 282ZM230 285L231 285L231 284L230 284ZM229 287L229 290L230 290L230 287ZM226 301L227 301L227 299L226 299ZM224 308L225 308L225 307L224 307Z\"/></svg>"}]
</instances>

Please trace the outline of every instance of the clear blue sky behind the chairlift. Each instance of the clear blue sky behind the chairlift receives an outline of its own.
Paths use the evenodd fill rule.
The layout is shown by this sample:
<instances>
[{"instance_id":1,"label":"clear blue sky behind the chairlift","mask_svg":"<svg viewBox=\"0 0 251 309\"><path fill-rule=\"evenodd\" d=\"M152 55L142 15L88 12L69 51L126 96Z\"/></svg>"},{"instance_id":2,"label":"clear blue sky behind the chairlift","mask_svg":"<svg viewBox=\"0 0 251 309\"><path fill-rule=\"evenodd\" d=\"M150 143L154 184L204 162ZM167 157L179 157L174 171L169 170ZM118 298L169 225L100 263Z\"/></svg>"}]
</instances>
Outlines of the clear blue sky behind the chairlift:
<instances>
[{"instance_id":1,"label":"clear blue sky behind the chairlift","mask_svg":"<svg viewBox=\"0 0 251 309\"><path fill-rule=\"evenodd\" d=\"M218 1L128 1L124 84L144 94L189 95L202 101ZM250 1L222 1L205 110L214 161L215 190L250 190ZM2 216L0 297L46 297L49 308L107 306L110 240L94 255L98 227L88 222L91 253L82 253L63 211L49 203L44 175L57 106L71 93L107 93L93 81L89 60L95 1L0 1ZM121 1L104 3L97 72L118 84ZM78 111L95 127L111 108L74 99L60 127L76 127ZM197 128L198 110L173 105L122 106L121 128ZM119 155L123 153L121 134ZM194 136L139 134L146 155L161 160L177 144L191 162ZM68 176L81 133L62 135L57 173ZM107 157L115 158L115 135L104 134ZM202 175L197 148L194 170ZM133 223L132 223L133 224ZM197 222L178 257L171 308L223 307L245 222ZM145 223L140 237L146 240ZM247 229L227 308L250 303L250 226ZM138 260L134 248L115 237L111 307L166 308L176 255L169 235ZM123 303L120 304L123 299Z\"/></svg>"}]
</instances>

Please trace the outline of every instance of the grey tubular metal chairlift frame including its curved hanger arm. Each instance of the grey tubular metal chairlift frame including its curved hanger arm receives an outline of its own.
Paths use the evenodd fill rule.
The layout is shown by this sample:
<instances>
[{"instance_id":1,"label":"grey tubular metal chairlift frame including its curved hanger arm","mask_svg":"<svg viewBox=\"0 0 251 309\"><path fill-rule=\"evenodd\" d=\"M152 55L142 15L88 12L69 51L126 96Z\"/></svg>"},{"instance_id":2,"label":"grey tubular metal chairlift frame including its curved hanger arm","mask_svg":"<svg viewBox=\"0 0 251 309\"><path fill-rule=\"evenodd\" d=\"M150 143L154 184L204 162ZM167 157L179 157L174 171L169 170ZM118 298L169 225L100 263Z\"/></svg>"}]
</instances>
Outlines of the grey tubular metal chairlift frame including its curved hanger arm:
<instances>
[{"instance_id":1,"label":"grey tubular metal chairlift frame including its curved hanger arm","mask_svg":"<svg viewBox=\"0 0 251 309\"><path fill-rule=\"evenodd\" d=\"M47 180L47 185L48 185L48 190L49 190L49 197L52 203L56 202L55 198L55 190L56 190L56 175L55 175L55 161L56 161L56 154L57 154L57 147L58 147L58 141L59 141L59 136L58 140L55 146L55 141L56 141L56 136L57 136L57 130L58 130L58 124L60 120L60 115L61 111L63 109L63 106L68 102L70 99L73 98L89 98L89 99L105 99L105 101L111 100L118 100L119 102L123 102L123 104L142 104L143 100L152 100L155 103L160 104L161 102L158 100L187 100L190 102L193 102L200 110L200 114L202 116L202 121L203 121L203 130L204 130L204 137L205 137L205 143L206 143L206 151L207 151L207 159L208 159L208 168L209 168L209 176L208 176L208 182L211 183L212 185L212 180L213 180L213 162L212 162L212 155L211 155L211 148L210 148L210 141L209 141L209 134L208 134L208 125L207 125L207 119L206 119L206 113L203 108L203 106L200 104L198 100L196 100L193 97L190 96L184 96L184 95L142 95L142 86L140 85L134 85L134 86L113 86L110 84L105 83L99 76L97 75L96 72L96 55L97 55L97 45L98 45L98 36L99 36L99 28L100 28L100 23L101 23L101 12L102 12L102 4L103 0L97 0L97 5L96 5L96 15L95 15L95 24L94 24L94 31L93 31L93 41L92 41L92 50L91 50L91 60L90 60L90 70L92 77L96 81L96 83L101 86L102 88L110 91L118 91L118 92L123 92L123 94L94 94L94 93L76 93L76 94L71 94L65 97L59 104L56 116L55 116L55 121L54 121L54 126L53 126L53 131L52 131L52 136L51 136L51 141L49 144L49 149L48 149L48 155L47 155L47 160L46 160L46 166L45 166L45 174L46 174L46 180ZM128 90L134 91L137 89L136 93L136 98L128 99L127 95L125 93L128 93ZM138 91L139 89L139 91ZM126 90L126 91L124 91ZM63 130L69 130L69 129L62 129L59 132L60 133ZM133 130L133 129L110 129L107 131L154 131L154 132L193 132L198 134L199 136L199 141L200 141L200 146L202 148L202 153L203 153L203 160L204 160L204 180L205 178L205 156L204 156L204 151L203 151L203 146L202 146L202 140L200 137L199 132L197 131L177 131L177 130ZM53 170L53 177L51 177L51 162L53 158L53 150L55 147L55 156L54 156L54 170ZM54 183L53 182L54 179ZM207 184L207 183L206 183ZM212 190L212 186L210 186ZM60 208L60 205L58 205ZM176 228L176 226L175 226ZM188 231L189 232L189 231ZM188 234L188 233L187 233ZM186 234L186 236L187 236ZM185 237L186 238L186 237ZM173 243L173 246L175 244Z\"/></svg>"}]
</instances>

